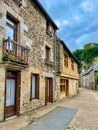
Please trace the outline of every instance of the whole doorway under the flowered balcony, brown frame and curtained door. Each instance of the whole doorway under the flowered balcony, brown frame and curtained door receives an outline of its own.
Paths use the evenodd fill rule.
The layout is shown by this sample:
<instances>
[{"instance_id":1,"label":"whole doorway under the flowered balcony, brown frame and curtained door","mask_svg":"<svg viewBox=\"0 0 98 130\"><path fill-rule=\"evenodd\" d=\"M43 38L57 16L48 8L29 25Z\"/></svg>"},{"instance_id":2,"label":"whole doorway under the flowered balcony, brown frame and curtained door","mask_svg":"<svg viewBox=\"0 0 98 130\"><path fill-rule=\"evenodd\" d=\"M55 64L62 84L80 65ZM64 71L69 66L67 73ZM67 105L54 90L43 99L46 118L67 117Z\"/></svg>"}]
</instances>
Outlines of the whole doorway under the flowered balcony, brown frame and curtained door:
<instances>
[{"instance_id":1,"label":"whole doorway under the flowered balcony, brown frame and curtained door","mask_svg":"<svg viewBox=\"0 0 98 130\"><path fill-rule=\"evenodd\" d=\"M5 118L19 114L20 83L20 71L7 70L5 89Z\"/></svg>"}]
</instances>

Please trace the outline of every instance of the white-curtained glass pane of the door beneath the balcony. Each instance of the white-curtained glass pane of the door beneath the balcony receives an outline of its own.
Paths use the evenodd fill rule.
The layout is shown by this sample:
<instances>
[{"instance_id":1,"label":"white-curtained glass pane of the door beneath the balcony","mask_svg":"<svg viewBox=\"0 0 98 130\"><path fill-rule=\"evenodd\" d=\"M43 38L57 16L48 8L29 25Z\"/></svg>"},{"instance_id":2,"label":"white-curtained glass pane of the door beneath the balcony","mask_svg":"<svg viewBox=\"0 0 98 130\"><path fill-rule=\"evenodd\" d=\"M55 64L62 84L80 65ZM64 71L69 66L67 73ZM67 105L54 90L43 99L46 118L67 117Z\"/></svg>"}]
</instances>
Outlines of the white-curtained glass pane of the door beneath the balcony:
<instances>
[{"instance_id":1,"label":"white-curtained glass pane of the door beneath the balcony","mask_svg":"<svg viewBox=\"0 0 98 130\"><path fill-rule=\"evenodd\" d=\"M15 80L7 79L6 106L15 105Z\"/></svg>"}]
</instances>

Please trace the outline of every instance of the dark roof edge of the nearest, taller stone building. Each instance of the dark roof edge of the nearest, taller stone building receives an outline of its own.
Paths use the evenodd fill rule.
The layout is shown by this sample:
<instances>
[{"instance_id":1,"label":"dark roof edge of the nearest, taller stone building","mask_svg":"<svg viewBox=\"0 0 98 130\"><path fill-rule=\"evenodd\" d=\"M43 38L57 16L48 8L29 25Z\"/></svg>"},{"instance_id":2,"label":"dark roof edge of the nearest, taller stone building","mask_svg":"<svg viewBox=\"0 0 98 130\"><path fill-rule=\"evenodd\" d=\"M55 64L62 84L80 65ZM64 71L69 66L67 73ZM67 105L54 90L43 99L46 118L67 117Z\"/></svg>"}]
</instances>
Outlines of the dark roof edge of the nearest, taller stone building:
<instances>
[{"instance_id":1,"label":"dark roof edge of the nearest, taller stone building","mask_svg":"<svg viewBox=\"0 0 98 130\"><path fill-rule=\"evenodd\" d=\"M49 20L49 22L53 25L53 27L57 30L59 29L52 18L49 16L47 11L44 9L39 0L32 0L32 2L37 6L37 8L43 13L43 15Z\"/></svg>"}]
</instances>

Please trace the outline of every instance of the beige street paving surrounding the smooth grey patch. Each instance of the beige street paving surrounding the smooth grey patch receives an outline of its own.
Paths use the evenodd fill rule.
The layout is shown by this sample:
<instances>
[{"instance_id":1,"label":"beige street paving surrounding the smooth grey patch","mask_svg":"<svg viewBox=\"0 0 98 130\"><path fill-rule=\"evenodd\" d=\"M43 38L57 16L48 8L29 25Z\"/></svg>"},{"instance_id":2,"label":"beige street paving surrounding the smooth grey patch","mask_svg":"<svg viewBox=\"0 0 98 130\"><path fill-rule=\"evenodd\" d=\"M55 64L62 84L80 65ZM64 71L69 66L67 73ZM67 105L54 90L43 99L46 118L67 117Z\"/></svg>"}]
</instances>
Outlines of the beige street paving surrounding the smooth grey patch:
<instances>
[{"instance_id":1,"label":"beige street paving surrounding the smooth grey patch","mask_svg":"<svg viewBox=\"0 0 98 130\"><path fill-rule=\"evenodd\" d=\"M62 101L49 104L28 115L22 115L0 123L0 130L19 130L29 124L32 121L30 119L35 119L34 123L36 123L40 116L45 115L58 106L78 109L69 127L80 128L78 130L98 130L98 91L95 92L82 88L80 88L79 95L71 98L66 97ZM70 130L73 129L70 128Z\"/></svg>"}]
</instances>

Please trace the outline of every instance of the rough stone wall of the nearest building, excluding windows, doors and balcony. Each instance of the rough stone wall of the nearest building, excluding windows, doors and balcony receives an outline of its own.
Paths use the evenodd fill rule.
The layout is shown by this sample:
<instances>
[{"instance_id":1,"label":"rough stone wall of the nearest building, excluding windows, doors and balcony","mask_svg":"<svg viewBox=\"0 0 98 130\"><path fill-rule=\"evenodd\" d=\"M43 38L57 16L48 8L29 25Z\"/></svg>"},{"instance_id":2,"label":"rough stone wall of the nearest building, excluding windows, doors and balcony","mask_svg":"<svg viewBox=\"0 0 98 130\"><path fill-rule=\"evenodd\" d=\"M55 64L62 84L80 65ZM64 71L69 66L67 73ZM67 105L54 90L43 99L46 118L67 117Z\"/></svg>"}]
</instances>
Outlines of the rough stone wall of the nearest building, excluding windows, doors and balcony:
<instances>
[{"instance_id":1,"label":"rough stone wall of the nearest building, excluding windows, doors and balcony","mask_svg":"<svg viewBox=\"0 0 98 130\"><path fill-rule=\"evenodd\" d=\"M5 109L5 80L6 70L21 71L21 91L20 91L20 114L27 109L35 109L45 105L45 78L54 80L54 32L56 25L47 19L43 11L30 0L22 0L22 6L18 6L18 0L0 0L0 121L4 120ZM10 63L3 64L2 62L2 42L6 36L6 19L7 15L18 22L18 43L23 46L28 46L29 51L29 67L21 67ZM46 34L46 21L50 20L51 34ZM50 62L45 63L45 47L50 48ZM30 101L31 74L39 75L39 99ZM54 85L53 85L53 93ZM54 94L53 94L54 95ZM53 96L53 101L55 97ZM24 105L26 104L26 106ZM27 108L28 107L28 108Z\"/></svg>"}]
</instances>

